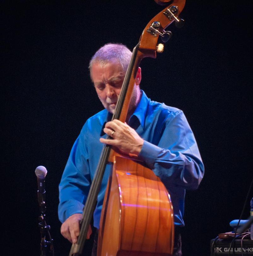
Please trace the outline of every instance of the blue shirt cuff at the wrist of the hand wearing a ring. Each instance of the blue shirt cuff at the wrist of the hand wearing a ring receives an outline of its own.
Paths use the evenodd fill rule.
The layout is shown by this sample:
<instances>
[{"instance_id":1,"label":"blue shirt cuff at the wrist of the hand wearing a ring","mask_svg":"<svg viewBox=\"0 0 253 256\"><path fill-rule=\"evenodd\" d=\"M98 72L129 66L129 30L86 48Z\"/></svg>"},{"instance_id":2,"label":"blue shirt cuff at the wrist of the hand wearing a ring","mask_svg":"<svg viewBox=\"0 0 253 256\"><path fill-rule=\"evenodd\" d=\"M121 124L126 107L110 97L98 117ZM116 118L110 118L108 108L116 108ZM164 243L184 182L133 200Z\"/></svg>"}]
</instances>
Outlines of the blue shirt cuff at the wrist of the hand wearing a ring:
<instances>
[{"instance_id":1,"label":"blue shirt cuff at the wrist of the hand wearing a ring","mask_svg":"<svg viewBox=\"0 0 253 256\"><path fill-rule=\"evenodd\" d=\"M154 169L155 161L160 152L161 152L161 148L144 140L144 143L142 145L141 152L139 153L138 158L141 161L145 162L148 168Z\"/></svg>"}]
</instances>

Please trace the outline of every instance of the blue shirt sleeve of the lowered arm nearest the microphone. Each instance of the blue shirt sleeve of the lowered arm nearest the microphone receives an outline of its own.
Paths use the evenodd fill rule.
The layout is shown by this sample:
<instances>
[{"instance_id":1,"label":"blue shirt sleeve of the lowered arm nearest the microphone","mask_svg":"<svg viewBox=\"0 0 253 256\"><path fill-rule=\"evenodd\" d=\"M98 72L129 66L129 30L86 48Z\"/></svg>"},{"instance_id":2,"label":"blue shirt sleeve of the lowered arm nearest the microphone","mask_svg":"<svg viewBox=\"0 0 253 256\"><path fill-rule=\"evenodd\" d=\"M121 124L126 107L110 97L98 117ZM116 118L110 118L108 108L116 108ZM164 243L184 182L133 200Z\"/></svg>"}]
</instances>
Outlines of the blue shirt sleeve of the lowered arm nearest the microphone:
<instances>
[{"instance_id":1,"label":"blue shirt sleeve of the lowered arm nearest the microphone","mask_svg":"<svg viewBox=\"0 0 253 256\"><path fill-rule=\"evenodd\" d=\"M59 185L58 216L61 222L75 213L83 212L91 186L87 149L80 137L83 136L79 135L71 149Z\"/></svg>"}]
</instances>

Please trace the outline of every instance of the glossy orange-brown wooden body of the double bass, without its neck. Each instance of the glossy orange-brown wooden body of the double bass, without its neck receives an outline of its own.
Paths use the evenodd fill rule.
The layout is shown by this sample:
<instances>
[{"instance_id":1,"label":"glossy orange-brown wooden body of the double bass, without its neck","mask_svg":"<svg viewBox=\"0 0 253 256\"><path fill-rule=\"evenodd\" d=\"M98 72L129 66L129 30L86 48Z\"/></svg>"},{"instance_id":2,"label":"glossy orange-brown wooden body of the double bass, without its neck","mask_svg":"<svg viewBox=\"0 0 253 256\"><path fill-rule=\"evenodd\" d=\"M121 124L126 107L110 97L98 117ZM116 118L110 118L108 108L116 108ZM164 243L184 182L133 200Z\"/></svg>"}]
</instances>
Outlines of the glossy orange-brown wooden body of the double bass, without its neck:
<instances>
[{"instance_id":1,"label":"glossy orange-brown wooden body of the double bass, without its neck","mask_svg":"<svg viewBox=\"0 0 253 256\"><path fill-rule=\"evenodd\" d=\"M127 255L171 254L173 208L161 180L150 169L117 156L108 186L109 198L104 200L108 209L100 221L102 225L105 219L103 237L99 236L99 243L103 238L100 255L124 255L130 251ZM119 234L114 234L117 231Z\"/></svg>"}]
</instances>

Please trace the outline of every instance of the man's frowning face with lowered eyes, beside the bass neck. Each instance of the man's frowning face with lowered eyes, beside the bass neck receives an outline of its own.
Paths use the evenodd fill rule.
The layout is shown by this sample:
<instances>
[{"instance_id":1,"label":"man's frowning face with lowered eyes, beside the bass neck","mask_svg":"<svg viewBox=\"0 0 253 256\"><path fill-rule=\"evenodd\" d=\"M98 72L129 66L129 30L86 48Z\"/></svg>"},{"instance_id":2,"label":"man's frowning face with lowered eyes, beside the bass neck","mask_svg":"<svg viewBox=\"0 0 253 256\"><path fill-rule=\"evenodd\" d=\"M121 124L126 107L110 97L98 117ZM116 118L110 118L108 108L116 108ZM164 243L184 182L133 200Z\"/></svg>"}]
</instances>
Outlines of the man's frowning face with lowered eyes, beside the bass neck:
<instances>
[{"instance_id":1,"label":"man's frowning face with lowered eyes, beside the bass neck","mask_svg":"<svg viewBox=\"0 0 253 256\"><path fill-rule=\"evenodd\" d=\"M91 72L98 98L110 113L114 113L126 73L118 61L110 61L103 66L95 63Z\"/></svg>"}]
</instances>

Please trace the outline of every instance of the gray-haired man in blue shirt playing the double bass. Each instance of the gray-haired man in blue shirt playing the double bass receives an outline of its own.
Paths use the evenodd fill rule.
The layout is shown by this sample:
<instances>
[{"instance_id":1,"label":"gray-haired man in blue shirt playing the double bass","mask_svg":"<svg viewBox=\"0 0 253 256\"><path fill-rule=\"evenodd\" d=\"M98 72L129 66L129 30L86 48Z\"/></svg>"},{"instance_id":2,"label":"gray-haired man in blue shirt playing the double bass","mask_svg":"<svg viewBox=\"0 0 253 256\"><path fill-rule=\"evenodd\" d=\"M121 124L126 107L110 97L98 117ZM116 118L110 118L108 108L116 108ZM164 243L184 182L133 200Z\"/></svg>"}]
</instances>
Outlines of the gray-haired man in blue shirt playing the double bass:
<instances>
[{"instance_id":1,"label":"gray-haired man in blue shirt playing the double bass","mask_svg":"<svg viewBox=\"0 0 253 256\"><path fill-rule=\"evenodd\" d=\"M141 69L135 78L126 123L109 121L114 113L132 53L126 46L107 44L90 62L90 74L97 95L105 109L89 118L71 150L59 185L59 219L62 235L76 242L79 222L91 181L94 177L103 143L135 156L160 177L170 193L174 208L174 255L181 255L179 227L184 226L185 188L196 189L203 178L203 163L194 135L183 112L174 107L150 101L139 89ZM103 124L107 121L103 131ZM104 133L105 134L104 134ZM104 135L103 135L104 134ZM113 137L106 140L106 134ZM94 227L99 220L109 178L108 164L94 211ZM91 234L91 229L87 237ZM177 254L176 254L177 253Z\"/></svg>"}]
</instances>

